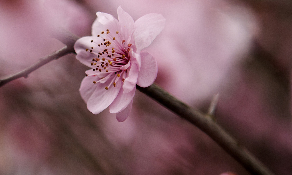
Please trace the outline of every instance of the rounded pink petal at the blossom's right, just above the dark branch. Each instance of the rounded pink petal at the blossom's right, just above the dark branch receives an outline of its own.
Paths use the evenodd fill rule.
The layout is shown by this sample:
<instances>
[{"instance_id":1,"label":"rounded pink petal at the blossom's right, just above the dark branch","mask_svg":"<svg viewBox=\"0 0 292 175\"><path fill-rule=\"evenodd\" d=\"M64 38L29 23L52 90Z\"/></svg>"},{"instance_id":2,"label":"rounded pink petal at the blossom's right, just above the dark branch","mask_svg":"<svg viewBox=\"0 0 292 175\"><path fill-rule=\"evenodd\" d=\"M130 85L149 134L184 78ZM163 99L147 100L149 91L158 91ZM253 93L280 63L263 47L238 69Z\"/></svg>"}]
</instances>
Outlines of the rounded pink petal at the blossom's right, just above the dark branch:
<instances>
[{"instance_id":1,"label":"rounded pink petal at the blossom's right, just above the dark branch","mask_svg":"<svg viewBox=\"0 0 292 175\"><path fill-rule=\"evenodd\" d=\"M144 51L140 53L141 56L141 68L138 76L137 85L145 88L155 81L158 71L157 62L154 57Z\"/></svg>"}]
</instances>

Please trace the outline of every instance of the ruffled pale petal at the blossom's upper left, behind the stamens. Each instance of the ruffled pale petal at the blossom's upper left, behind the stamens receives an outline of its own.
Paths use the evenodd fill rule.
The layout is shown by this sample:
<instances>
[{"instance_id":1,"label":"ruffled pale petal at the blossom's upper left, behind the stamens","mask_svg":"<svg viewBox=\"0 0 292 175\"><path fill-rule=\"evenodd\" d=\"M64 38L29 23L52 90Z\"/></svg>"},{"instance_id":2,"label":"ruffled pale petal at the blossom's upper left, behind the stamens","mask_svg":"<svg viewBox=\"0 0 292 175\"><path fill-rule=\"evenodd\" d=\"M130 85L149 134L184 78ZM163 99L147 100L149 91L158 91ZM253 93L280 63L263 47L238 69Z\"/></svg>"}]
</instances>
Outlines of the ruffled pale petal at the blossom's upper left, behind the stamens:
<instances>
[{"instance_id":1,"label":"ruffled pale petal at the blossom's upper left, behind the stamens","mask_svg":"<svg viewBox=\"0 0 292 175\"><path fill-rule=\"evenodd\" d=\"M106 30L109 29L111 34L116 34L116 31L120 30L119 21L114 18L112 15L102 12L96 13L97 18L92 24L91 27L91 34L92 36L101 35L101 32L107 32Z\"/></svg>"}]
</instances>

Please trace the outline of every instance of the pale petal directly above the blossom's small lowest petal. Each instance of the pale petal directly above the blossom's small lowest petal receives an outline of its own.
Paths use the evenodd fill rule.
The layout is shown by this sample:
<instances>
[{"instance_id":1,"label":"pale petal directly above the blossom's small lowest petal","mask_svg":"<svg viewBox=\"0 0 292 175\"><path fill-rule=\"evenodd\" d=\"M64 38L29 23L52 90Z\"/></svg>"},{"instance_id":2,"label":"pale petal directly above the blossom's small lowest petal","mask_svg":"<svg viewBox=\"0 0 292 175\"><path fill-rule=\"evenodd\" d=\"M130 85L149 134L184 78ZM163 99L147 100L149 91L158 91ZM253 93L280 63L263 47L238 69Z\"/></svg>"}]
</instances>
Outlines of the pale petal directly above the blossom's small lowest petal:
<instances>
[{"instance_id":1,"label":"pale petal directly above the blossom's small lowest petal","mask_svg":"<svg viewBox=\"0 0 292 175\"><path fill-rule=\"evenodd\" d=\"M124 93L121 89L117 98L109 105L110 113L118 113L124 110L128 104L132 101L135 95L136 88L134 88L131 92Z\"/></svg>"}]
</instances>

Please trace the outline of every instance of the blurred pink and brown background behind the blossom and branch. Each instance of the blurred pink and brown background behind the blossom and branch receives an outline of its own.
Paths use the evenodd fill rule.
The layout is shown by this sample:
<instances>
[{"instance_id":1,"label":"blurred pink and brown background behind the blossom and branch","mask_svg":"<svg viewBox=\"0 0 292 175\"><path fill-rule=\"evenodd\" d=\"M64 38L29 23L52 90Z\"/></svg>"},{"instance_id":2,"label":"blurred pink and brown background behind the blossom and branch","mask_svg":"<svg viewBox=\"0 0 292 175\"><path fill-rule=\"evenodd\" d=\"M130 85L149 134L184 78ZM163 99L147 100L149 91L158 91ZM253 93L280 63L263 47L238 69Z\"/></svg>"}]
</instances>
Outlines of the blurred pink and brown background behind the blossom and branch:
<instances>
[{"instance_id":1,"label":"blurred pink and brown background behind the blossom and branch","mask_svg":"<svg viewBox=\"0 0 292 175\"><path fill-rule=\"evenodd\" d=\"M156 83L206 112L275 174L292 174L292 3L286 0L1 0L0 77L64 45L57 27L91 33L95 12L166 26L147 50ZM136 92L122 123L90 113L79 95L88 68L70 54L0 88L0 175L247 175L206 134Z\"/></svg>"}]
</instances>

